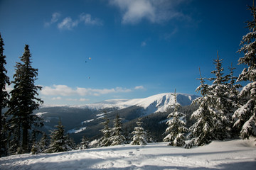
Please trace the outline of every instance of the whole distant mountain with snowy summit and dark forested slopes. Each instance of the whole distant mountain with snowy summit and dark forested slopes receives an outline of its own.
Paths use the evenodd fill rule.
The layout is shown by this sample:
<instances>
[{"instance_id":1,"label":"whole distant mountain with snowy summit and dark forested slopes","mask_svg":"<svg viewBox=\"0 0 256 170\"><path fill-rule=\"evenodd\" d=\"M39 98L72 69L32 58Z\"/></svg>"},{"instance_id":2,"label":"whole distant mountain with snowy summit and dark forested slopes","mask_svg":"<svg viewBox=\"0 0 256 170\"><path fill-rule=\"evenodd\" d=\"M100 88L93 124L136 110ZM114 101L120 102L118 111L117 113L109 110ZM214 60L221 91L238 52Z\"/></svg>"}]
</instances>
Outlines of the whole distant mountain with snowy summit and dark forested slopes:
<instances>
[{"instance_id":1,"label":"whole distant mountain with snowy summit and dark forested slopes","mask_svg":"<svg viewBox=\"0 0 256 170\"><path fill-rule=\"evenodd\" d=\"M181 106L188 106L197 97L196 95L177 94L177 102ZM102 128L100 125L104 121L102 118L105 117L105 111L107 111L110 122L119 114L123 123L129 123L129 121L151 113L164 113L174 102L173 94L164 93L147 98L106 100L83 106L45 106L36 111L36 114L45 120L44 131L53 130L60 118L66 132L72 134L76 141L80 141L82 135L87 137L100 135L100 128ZM159 121L161 120L160 118Z\"/></svg>"}]
</instances>

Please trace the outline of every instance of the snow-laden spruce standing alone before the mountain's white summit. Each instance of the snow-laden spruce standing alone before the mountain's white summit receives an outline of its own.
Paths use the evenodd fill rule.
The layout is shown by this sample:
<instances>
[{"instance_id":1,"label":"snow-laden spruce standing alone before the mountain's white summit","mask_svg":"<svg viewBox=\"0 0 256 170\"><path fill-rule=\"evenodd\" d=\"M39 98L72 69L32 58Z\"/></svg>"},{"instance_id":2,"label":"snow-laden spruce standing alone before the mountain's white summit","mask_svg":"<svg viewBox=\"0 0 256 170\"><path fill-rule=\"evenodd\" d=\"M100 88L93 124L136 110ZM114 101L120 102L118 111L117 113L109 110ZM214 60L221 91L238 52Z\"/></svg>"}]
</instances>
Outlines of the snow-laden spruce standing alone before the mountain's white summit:
<instances>
[{"instance_id":1,"label":"snow-laden spruce standing alone before the mountain's white summit","mask_svg":"<svg viewBox=\"0 0 256 170\"><path fill-rule=\"evenodd\" d=\"M168 128L166 128L166 137L164 137L164 142L170 142L170 146L176 147L183 147L185 145L186 136L185 133L187 132L185 114L178 112L178 108L181 106L177 103L177 94L176 89L174 92L174 111L170 113L167 118L169 120L166 122Z\"/></svg>"}]
</instances>

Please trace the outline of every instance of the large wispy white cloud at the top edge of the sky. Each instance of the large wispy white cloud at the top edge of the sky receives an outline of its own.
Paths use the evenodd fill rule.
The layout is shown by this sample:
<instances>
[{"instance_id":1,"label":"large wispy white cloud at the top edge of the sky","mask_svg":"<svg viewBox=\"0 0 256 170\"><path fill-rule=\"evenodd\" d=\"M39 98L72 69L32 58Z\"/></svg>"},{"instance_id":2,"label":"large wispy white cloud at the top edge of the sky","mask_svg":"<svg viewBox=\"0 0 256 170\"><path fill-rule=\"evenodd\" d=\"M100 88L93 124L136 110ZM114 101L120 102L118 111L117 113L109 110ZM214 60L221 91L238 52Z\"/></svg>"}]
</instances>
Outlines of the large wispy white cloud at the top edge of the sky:
<instances>
[{"instance_id":1,"label":"large wispy white cloud at the top edge of the sky","mask_svg":"<svg viewBox=\"0 0 256 170\"><path fill-rule=\"evenodd\" d=\"M151 23L162 23L172 18L182 18L176 6L185 0L110 0L122 12L122 23L139 23L143 19Z\"/></svg>"}]
</instances>

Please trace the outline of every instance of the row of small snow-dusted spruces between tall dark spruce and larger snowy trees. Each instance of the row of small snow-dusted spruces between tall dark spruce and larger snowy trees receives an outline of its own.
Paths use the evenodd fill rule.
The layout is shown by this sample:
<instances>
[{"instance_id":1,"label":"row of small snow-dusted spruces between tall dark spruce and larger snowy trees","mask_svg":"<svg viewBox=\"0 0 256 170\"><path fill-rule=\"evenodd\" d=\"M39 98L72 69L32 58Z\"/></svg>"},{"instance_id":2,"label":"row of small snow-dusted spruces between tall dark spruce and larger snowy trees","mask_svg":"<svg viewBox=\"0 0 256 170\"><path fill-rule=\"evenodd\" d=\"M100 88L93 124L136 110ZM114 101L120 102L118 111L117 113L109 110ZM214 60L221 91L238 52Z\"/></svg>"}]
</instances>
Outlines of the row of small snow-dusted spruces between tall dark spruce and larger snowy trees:
<instances>
[{"instance_id":1,"label":"row of small snow-dusted spruces between tall dark spruce and larger snowy trees","mask_svg":"<svg viewBox=\"0 0 256 170\"><path fill-rule=\"evenodd\" d=\"M101 124L103 129L102 137L100 139L89 142L88 138L83 136L81 142L76 145L70 135L65 135L64 126L59 120L58 125L55 126L50 134L50 140L46 133L43 133L41 140L35 142L32 146L31 153L54 153L54 152L65 152L72 149L87 149L90 147L109 147L114 145L124 145L130 143L131 145L146 145L146 132L142 128L142 120L139 118L137 127L129 135L123 135L122 130L122 118L116 115L113 120L113 127L110 128L110 119L105 116L105 121ZM131 136L132 135L132 136Z\"/></svg>"}]
</instances>

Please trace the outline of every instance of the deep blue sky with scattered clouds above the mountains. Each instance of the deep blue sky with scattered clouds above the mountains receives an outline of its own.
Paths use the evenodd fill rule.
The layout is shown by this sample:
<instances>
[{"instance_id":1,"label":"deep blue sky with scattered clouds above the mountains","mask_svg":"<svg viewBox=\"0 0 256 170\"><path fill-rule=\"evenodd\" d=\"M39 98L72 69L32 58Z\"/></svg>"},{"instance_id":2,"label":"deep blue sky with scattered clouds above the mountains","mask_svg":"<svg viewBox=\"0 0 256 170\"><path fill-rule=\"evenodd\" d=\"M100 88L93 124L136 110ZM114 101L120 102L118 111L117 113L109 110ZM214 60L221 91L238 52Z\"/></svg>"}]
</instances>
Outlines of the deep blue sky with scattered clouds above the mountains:
<instances>
[{"instance_id":1,"label":"deep blue sky with scattered clouds above the mountains","mask_svg":"<svg viewBox=\"0 0 256 170\"><path fill-rule=\"evenodd\" d=\"M8 76L30 45L45 104L196 94L217 50L237 65L251 0L0 0ZM91 60L89 60L91 58ZM89 78L90 77L90 78ZM9 87L8 89L11 89Z\"/></svg>"}]
</instances>

